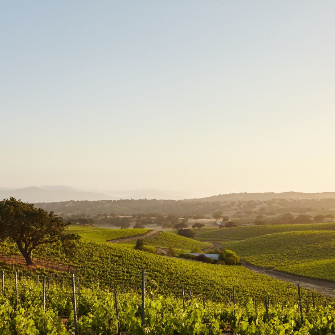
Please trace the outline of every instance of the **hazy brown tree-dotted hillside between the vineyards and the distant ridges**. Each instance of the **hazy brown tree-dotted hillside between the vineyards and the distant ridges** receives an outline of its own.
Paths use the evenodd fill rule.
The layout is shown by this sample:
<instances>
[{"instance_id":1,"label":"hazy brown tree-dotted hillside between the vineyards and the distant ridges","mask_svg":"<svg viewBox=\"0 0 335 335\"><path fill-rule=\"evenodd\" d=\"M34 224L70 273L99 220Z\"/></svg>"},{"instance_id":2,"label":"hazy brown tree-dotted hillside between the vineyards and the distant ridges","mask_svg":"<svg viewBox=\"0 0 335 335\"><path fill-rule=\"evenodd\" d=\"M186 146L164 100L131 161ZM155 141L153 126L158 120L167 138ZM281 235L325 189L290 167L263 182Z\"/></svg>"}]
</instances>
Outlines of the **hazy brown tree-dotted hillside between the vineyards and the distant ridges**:
<instances>
[{"instance_id":1,"label":"hazy brown tree-dotted hillside between the vineyards and the distant ridges","mask_svg":"<svg viewBox=\"0 0 335 335\"><path fill-rule=\"evenodd\" d=\"M207 199L207 198L206 198ZM273 217L284 213L309 214L319 210L332 211L335 208L335 198L325 199L271 199L271 200L219 200L210 197L192 200L157 200L157 199L120 199L100 201L62 201L39 202L37 207L54 211L62 216L87 214L91 217L114 213L116 215L132 215L146 213L154 217L156 214L177 214L194 216L205 215L211 218L212 214L220 210L222 215L229 218L255 219L257 215ZM325 212L327 214L327 212Z\"/></svg>"}]
</instances>

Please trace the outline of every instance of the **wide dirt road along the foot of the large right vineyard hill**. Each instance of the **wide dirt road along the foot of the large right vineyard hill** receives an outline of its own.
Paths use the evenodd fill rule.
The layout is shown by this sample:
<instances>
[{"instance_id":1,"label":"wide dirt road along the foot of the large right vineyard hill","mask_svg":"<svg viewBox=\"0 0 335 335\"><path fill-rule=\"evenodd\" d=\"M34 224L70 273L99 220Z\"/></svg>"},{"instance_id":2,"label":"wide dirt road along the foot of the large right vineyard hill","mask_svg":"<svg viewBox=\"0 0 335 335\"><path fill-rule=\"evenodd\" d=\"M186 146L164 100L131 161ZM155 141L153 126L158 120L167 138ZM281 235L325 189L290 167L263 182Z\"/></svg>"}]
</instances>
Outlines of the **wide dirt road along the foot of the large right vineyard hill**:
<instances>
[{"instance_id":1,"label":"wide dirt road along the foot of the large right vineyard hill","mask_svg":"<svg viewBox=\"0 0 335 335\"><path fill-rule=\"evenodd\" d=\"M307 288L309 290L315 290L323 295L335 297L335 283L330 281L296 276L291 273L274 270L273 268L262 268L261 266L250 264L242 259L240 262L244 267L252 271L266 274L270 277L281 279L283 281L288 281L292 284L299 283L301 287Z\"/></svg>"}]
</instances>

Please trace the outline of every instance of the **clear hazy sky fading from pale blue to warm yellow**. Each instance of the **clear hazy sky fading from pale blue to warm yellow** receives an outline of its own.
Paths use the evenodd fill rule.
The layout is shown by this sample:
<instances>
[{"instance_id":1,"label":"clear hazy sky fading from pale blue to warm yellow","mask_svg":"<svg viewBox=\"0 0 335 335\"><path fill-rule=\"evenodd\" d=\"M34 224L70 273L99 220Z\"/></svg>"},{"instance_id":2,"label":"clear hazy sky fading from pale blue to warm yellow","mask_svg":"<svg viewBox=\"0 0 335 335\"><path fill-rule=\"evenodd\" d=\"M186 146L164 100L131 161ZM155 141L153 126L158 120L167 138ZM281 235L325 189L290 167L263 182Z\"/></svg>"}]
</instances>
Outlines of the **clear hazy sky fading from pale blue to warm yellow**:
<instances>
[{"instance_id":1,"label":"clear hazy sky fading from pale blue to warm yellow","mask_svg":"<svg viewBox=\"0 0 335 335\"><path fill-rule=\"evenodd\" d=\"M0 187L335 191L335 1L1 1Z\"/></svg>"}]
</instances>

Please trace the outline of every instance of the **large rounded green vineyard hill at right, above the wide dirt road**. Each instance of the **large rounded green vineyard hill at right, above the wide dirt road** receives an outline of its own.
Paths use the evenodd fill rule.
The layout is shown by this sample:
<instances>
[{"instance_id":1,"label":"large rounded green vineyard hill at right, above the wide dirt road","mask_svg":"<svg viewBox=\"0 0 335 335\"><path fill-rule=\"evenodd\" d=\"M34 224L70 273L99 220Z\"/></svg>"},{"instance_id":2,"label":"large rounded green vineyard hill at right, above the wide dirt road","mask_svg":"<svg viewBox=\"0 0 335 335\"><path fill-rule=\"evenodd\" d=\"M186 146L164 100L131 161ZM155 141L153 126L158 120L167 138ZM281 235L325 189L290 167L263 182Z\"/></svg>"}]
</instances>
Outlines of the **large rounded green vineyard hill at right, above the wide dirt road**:
<instances>
[{"instance_id":1,"label":"large rounded green vineyard hill at right, above the wide dirt road","mask_svg":"<svg viewBox=\"0 0 335 335\"><path fill-rule=\"evenodd\" d=\"M313 278L335 278L334 231L275 233L223 245L255 265Z\"/></svg>"}]
</instances>

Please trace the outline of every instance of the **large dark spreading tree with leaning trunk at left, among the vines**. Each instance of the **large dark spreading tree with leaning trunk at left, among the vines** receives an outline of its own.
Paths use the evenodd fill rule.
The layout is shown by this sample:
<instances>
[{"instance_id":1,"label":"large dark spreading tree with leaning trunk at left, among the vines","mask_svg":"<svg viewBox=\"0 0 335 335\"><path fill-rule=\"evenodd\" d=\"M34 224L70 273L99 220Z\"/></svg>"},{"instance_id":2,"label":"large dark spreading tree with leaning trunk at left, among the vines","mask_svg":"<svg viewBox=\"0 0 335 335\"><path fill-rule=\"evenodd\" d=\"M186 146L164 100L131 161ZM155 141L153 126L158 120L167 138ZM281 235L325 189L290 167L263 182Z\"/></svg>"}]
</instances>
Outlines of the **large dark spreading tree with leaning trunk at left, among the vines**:
<instances>
[{"instance_id":1,"label":"large dark spreading tree with leaning trunk at left, among the vines","mask_svg":"<svg viewBox=\"0 0 335 335\"><path fill-rule=\"evenodd\" d=\"M34 265L31 252L38 246L74 239L74 235L65 234L69 224L33 204L14 198L0 201L0 240L15 242L27 265Z\"/></svg>"}]
</instances>

